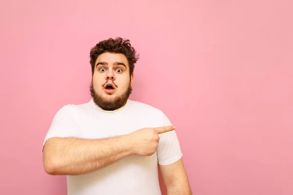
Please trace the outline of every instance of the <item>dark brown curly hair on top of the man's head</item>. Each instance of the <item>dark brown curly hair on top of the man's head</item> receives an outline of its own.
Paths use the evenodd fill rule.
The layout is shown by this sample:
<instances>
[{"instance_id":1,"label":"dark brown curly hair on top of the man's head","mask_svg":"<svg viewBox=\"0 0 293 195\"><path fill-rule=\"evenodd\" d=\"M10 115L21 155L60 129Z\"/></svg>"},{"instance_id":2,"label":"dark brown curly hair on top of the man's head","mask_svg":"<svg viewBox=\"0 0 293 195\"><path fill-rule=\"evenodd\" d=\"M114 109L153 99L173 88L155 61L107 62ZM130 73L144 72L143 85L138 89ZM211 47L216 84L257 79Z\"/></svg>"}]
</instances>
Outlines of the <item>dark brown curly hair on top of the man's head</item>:
<instances>
[{"instance_id":1,"label":"dark brown curly hair on top of the man's head","mask_svg":"<svg viewBox=\"0 0 293 195\"><path fill-rule=\"evenodd\" d=\"M116 39L106 39L100 41L90 50L90 65L92 70L92 75L95 71L95 63L99 55L109 52L109 53L117 53L124 54L128 60L129 64L129 73L130 76L134 70L134 64L139 59L139 55L135 51L135 49L131 46L129 39L122 39L117 37Z\"/></svg>"}]
</instances>

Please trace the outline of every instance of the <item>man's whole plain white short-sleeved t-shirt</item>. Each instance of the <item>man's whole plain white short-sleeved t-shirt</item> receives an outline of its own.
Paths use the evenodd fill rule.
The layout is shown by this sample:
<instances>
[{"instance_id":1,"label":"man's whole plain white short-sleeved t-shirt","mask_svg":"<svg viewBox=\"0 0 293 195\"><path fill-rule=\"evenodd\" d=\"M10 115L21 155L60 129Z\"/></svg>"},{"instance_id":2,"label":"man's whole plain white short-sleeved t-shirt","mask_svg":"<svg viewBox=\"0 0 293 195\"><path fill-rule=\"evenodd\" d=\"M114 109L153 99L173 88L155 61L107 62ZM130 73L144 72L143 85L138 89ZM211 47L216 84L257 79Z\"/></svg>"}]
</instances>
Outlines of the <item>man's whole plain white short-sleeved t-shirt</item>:
<instances>
[{"instance_id":1,"label":"man's whole plain white short-sleeved t-shirt","mask_svg":"<svg viewBox=\"0 0 293 195\"><path fill-rule=\"evenodd\" d=\"M105 111L91 99L63 106L55 115L43 144L50 137L107 138L147 127L172 125L150 105L128 99L115 111ZM182 157L175 131L159 135L152 156L127 156L89 174L67 177L68 195L161 195L158 163L168 165Z\"/></svg>"}]
</instances>

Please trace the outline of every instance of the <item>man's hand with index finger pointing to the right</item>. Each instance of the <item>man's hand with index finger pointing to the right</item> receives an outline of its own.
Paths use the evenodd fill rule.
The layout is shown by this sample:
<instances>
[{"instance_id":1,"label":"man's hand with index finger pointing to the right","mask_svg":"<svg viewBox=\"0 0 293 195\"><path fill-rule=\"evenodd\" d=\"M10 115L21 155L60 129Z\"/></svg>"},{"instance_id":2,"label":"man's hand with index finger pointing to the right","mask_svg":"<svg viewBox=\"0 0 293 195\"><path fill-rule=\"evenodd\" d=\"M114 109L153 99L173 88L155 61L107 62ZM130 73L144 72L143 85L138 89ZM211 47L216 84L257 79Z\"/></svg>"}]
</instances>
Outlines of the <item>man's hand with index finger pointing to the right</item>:
<instances>
[{"instance_id":1,"label":"man's hand with index finger pointing to the right","mask_svg":"<svg viewBox=\"0 0 293 195\"><path fill-rule=\"evenodd\" d=\"M174 126L144 128L127 135L131 144L132 154L139 156L151 156L157 150L159 134L175 130Z\"/></svg>"}]
</instances>

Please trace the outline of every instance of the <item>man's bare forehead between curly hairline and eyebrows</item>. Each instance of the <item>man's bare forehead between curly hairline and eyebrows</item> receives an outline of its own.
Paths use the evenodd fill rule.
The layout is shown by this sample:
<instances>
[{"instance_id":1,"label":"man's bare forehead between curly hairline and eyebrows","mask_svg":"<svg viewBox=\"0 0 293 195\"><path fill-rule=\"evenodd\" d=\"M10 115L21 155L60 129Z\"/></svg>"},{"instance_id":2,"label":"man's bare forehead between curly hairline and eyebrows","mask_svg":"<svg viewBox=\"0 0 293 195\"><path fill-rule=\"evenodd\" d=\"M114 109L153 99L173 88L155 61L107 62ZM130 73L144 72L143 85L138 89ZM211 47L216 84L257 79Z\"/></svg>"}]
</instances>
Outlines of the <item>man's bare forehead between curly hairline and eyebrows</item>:
<instances>
[{"instance_id":1,"label":"man's bare forehead between curly hairline and eyebrows","mask_svg":"<svg viewBox=\"0 0 293 195\"><path fill-rule=\"evenodd\" d=\"M124 54L115 54L115 53L103 53L98 56L96 63L99 62L107 62L108 65L112 65L115 62L121 62L124 63L127 67L128 65L128 60Z\"/></svg>"}]
</instances>

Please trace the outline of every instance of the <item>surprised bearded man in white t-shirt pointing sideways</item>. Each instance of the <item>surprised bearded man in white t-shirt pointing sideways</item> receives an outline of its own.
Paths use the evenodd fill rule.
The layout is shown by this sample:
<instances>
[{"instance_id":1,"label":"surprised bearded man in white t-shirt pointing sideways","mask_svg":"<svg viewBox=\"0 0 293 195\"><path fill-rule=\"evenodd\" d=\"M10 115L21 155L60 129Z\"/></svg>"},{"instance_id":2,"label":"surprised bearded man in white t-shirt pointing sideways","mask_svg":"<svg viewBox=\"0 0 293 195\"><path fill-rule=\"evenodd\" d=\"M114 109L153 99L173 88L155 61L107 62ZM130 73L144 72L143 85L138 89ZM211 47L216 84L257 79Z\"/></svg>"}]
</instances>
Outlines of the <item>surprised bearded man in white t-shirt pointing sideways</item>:
<instances>
[{"instance_id":1,"label":"surprised bearded man in white t-shirt pointing sideways","mask_svg":"<svg viewBox=\"0 0 293 195\"><path fill-rule=\"evenodd\" d=\"M92 99L63 106L43 142L43 166L66 175L68 195L190 195L175 127L162 111L128 99L138 60L128 39L90 51Z\"/></svg>"}]
</instances>

